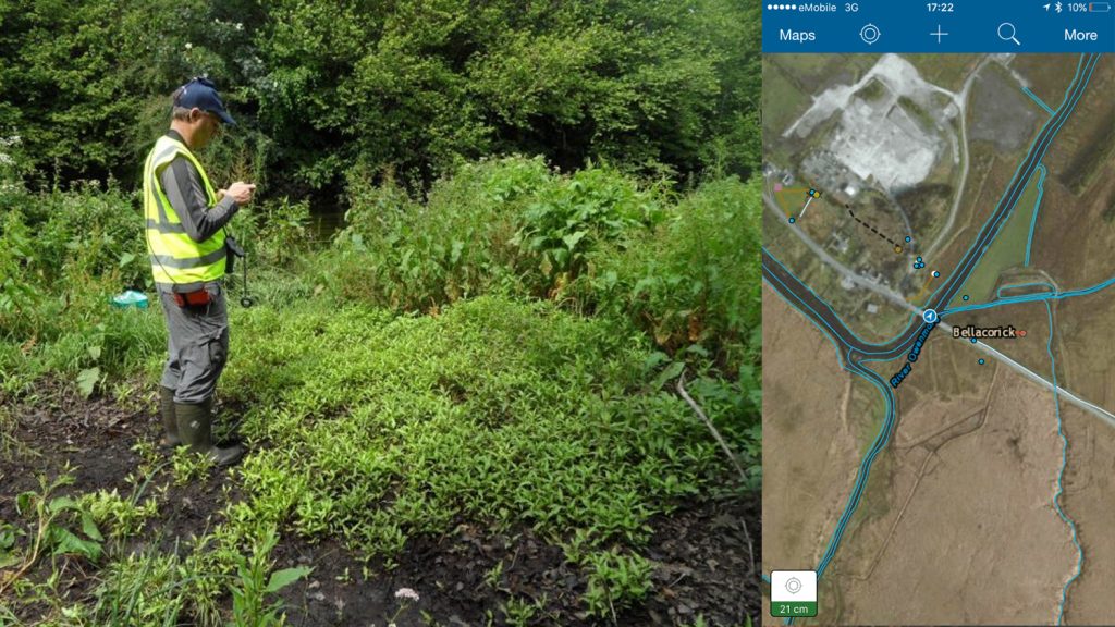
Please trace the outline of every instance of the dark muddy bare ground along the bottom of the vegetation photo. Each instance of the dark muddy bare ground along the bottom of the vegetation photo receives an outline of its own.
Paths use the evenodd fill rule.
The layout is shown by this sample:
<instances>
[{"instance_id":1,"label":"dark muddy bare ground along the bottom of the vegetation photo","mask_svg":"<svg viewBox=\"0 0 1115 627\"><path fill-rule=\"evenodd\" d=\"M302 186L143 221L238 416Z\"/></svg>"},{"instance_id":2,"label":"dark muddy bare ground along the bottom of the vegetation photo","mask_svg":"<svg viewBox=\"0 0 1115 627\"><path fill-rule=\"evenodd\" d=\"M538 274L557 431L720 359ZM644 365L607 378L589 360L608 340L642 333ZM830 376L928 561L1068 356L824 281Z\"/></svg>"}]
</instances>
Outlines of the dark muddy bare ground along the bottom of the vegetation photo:
<instances>
[{"instance_id":1,"label":"dark muddy bare ground along the bottom of the vegetation photo","mask_svg":"<svg viewBox=\"0 0 1115 627\"><path fill-rule=\"evenodd\" d=\"M158 435L154 399L124 407L106 398L81 399L60 385L41 389L31 404L0 399L14 418L0 455L0 520L16 521L16 495L37 490L39 475L54 479L67 462L74 466L75 483L62 493L113 488L129 493L125 478L142 461L132 446ZM163 473L155 483L171 481ZM220 518L225 504L223 486L232 481L225 473L213 472L185 488L172 485L145 536L162 530L166 550L173 550L175 538L188 546L192 536L204 533ZM232 498L239 498L236 486L231 488ZM758 494L694 504L652 519L653 536L640 553L655 563L653 589L641 606L620 610L617 624L691 625L701 616L706 625L741 626L748 616L757 618L758 577L750 569L744 521L758 551ZM542 609L527 624L611 623L585 615L581 599L585 578L565 562L560 548L529 528L496 533L462 523L445 537L413 538L390 569L380 560L366 565L332 540L311 543L292 533L283 534L272 558L275 568L313 567L308 578L282 591L292 626L386 625L399 608L395 598L399 588L411 588L421 597L396 617L399 627L486 625L489 617L492 624L502 625L503 608L512 597L520 605L539 601ZM762 563L760 556L755 561ZM501 575L489 576L501 562ZM27 577L41 581L49 570L49 563L40 563ZM60 594L69 602L89 600L95 573L95 566L68 561ZM223 605L231 607L231 599L223 599ZM18 614L35 623L45 609L27 607Z\"/></svg>"}]
</instances>

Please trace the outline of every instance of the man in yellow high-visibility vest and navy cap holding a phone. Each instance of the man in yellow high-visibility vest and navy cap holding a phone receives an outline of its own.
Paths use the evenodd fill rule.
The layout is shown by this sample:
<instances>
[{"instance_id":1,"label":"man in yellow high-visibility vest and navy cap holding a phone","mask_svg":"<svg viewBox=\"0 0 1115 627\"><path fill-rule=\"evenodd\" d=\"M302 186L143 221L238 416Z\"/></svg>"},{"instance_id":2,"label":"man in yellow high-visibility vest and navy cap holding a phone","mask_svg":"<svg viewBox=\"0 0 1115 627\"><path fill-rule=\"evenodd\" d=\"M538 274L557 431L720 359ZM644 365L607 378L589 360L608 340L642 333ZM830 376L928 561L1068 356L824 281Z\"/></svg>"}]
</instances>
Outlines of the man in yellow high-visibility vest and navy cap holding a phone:
<instances>
[{"instance_id":1,"label":"man in yellow high-visibility vest and navy cap holding a phone","mask_svg":"<svg viewBox=\"0 0 1115 627\"><path fill-rule=\"evenodd\" d=\"M172 115L171 129L147 155L143 179L147 250L169 335L159 389L161 444L187 444L227 465L244 451L216 446L211 432L213 392L229 356L224 225L251 202L255 185L236 182L214 191L194 156L223 124L235 125L212 83L195 78L175 90Z\"/></svg>"}]
</instances>

